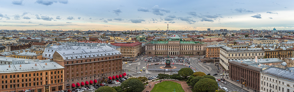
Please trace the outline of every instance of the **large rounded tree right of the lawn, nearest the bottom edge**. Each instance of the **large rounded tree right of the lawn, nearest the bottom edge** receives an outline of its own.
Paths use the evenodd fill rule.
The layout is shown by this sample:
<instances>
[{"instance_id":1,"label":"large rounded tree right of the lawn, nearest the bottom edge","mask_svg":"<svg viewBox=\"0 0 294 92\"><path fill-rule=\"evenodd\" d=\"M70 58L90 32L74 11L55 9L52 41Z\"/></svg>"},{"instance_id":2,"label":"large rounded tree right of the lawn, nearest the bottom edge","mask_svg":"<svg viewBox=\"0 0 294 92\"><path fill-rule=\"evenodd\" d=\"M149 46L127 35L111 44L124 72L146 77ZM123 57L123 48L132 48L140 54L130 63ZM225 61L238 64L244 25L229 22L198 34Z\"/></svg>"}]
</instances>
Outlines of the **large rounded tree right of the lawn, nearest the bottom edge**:
<instances>
[{"instance_id":1,"label":"large rounded tree right of the lawn, nearest the bottom edge","mask_svg":"<svg viewBox=\"0 0 294 92\"><path fill-rule=\"evenodd\" d=\"M194 90L197 92L214 92L217 89L218 83L208 78L200 79L194 86Z\"/></svg>"}]
</instances>

